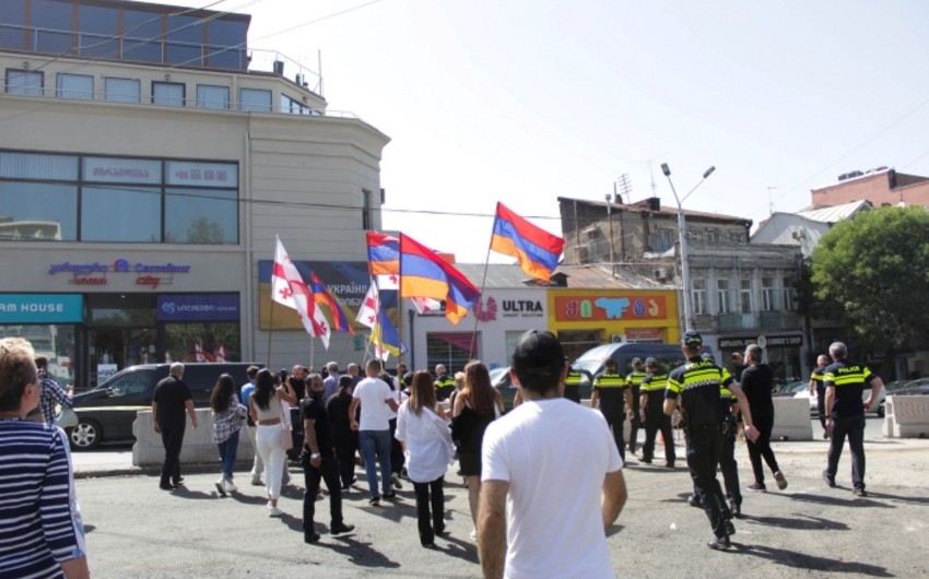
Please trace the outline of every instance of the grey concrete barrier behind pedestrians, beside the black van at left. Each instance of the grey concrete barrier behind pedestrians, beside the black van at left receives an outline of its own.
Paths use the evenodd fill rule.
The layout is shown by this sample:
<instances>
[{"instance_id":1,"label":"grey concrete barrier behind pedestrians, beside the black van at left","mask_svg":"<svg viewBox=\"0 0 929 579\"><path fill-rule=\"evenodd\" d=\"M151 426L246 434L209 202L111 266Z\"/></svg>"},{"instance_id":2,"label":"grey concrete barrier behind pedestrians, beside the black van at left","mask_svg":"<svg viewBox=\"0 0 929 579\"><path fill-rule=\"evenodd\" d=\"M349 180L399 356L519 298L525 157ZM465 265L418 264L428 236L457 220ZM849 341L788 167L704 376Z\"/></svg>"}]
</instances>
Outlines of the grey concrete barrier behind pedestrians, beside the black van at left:
<instances>
[{"instance_id":1,"label":"grey concrete barrier behind pedestrians, beside the black van at left","mask_svg":"<svg viewBox=\"0 0 929 579\"><path fill-rule=\"evenodd\" d=\"M219 468L220 456L213 444L213 413L210 409L197 409L197 428L190 426L184 432L184 446L180 449L180 461L190 463L215 462ZM165 459L165 447L162 435L152 426L152 411L140 411L132 423L132 434L136 444L132 445L132 464L144 466L161 464ZM255 458L255 448L245 430L238 437L236 461L250 461Z\"/></svg>"}]
</instances>

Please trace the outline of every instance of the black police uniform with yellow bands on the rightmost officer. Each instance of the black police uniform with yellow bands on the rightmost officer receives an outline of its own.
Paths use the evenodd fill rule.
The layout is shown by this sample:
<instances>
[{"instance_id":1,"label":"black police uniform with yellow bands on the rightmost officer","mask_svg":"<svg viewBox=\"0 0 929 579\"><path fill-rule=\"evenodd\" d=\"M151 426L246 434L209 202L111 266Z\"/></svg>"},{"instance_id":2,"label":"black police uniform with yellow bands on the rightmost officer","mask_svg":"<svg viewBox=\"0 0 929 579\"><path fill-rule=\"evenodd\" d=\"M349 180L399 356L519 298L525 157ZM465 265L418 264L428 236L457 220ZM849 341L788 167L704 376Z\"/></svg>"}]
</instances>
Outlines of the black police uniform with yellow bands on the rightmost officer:
<instances>
[{"instance_id":1,"label":"black police uniform with yellow bands on the rightmost officer","mask_svg":"<svg viewBox=\"0 0 929 579\"><path fill-rule=\"evenodd\" d=\"M865 404L861 397L865 386L877 378L863 364L838 359L826 366L823 383L825 388L835 388L835 400L830 417L833 422L830 440L828 466L823 475L830 485L835 484L835 472L845 437L851 450L851 485L865 491Z\"/></svg>"}]
</instances>

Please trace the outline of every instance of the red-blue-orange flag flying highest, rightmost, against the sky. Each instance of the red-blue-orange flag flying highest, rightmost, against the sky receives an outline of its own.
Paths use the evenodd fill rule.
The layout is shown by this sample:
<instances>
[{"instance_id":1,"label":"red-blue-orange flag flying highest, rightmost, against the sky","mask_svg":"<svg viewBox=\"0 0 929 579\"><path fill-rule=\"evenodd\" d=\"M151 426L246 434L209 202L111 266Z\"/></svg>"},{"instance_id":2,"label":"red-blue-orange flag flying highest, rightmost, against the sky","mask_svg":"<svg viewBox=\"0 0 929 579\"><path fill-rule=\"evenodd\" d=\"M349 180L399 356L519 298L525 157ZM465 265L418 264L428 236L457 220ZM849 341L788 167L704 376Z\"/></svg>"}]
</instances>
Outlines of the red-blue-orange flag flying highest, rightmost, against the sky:
<instances>
[{"instance_id":1,"label":"red-blue-orange flag flying highest, rightmost, against the sky","mask_svg":"<svg viewBox=\"0 0 929 579\"><path fill-rule=\"evenodd\" d=\"M537 227L497 201L491 249L513 256L527 274L549 281L558 265L564 239Z\"/></svg>"}]
</instances>

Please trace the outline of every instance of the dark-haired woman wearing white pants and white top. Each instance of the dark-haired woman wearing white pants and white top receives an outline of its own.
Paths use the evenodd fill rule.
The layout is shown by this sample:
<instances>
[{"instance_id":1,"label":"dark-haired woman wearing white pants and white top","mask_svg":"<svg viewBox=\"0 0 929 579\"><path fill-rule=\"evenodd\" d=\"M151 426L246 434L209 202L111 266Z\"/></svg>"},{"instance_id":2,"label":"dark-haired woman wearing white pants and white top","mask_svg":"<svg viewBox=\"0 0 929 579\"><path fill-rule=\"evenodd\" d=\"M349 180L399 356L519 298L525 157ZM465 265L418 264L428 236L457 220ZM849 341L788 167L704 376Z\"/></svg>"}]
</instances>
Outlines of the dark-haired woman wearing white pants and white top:
<instances>
[{"instance_id":1,"label":"dark-haired woman wearing white pants and white top","mask_svg":"<svg viewBox=\"0 0 929 579\"><path fill-rule=\"evenodd\" d=\"M258 371L255 391L248 399L248 412L258 425L255 434L256 450L264 462L264 488L268 491L268 516L283 515L278 508L281 496L281 476L286 456L281 444L281 401L296 404L296 397L286 387L278 386L274 375L267 368Z\"/></svg>"}]
</instances>

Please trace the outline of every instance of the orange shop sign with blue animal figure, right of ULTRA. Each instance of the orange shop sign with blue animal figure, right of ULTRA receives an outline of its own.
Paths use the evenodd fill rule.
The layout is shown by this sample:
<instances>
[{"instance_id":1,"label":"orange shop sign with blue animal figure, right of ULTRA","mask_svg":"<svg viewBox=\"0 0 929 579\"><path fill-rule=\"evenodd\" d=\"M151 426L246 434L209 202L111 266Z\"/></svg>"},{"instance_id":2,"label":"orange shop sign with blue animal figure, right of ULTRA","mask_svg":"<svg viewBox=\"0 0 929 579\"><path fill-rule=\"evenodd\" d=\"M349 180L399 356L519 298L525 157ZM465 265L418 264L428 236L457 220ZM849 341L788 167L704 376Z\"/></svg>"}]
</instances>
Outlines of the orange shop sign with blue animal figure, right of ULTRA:
<instances>
[{"instance_id":1,"label":"orange shop sign with blue animal figure, right of ULTRA","mask_svg":"<svg viewBox=\"0 0 929 579\"><path fill-rule=\"evenodd\" d=\"M665 296L555 296L557 321L661 320Z\"/></svg>"}]
</instances>

